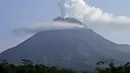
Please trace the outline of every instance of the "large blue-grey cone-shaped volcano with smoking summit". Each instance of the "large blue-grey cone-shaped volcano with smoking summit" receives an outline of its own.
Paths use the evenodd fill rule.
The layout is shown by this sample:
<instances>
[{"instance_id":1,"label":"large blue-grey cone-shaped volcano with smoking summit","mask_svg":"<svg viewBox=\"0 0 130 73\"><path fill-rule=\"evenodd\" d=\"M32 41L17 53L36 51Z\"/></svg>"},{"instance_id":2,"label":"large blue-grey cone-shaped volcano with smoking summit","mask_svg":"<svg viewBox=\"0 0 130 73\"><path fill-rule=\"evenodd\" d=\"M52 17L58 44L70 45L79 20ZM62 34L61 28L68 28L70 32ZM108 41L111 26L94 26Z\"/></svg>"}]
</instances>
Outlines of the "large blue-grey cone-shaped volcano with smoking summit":
<instances>
[{"instance_id":1,"label":"large blue-grey cone-shaped volcano with smoking summit","mask_svg":"<svg viewBox=\"0 0 130 73\"><path fill-rule=\"evenodd\" d=\"M84 28L40 31L0 54L0 60L19 64L21 59L48 66L83 69L94 67L101 58L129 61L129 45L113 43L74 18L58 17L54 21L75 23Z\"/></svg>"}]
</instances>

